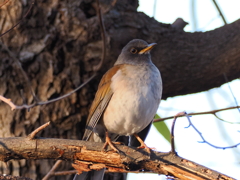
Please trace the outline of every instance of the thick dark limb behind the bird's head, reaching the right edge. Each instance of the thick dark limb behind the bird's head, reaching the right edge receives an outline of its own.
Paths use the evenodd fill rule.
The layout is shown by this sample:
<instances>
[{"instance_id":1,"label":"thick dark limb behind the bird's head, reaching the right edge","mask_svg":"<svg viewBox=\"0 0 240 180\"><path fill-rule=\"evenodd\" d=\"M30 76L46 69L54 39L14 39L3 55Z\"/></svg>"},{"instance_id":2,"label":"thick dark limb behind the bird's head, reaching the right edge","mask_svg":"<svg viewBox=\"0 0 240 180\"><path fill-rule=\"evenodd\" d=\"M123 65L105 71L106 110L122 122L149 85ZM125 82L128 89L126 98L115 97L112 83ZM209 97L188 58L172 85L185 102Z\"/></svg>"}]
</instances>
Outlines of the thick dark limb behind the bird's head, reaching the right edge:
<instances>
[{"instance_id":1,"label":"thick dark limb behind the bird's head, reaching the right edge","mask_svg":"<svg viewBox=\"0 0 240 180\"><path fill-rule=\"evenodd\" d=\"M189 33L140 12L106 14L104 18L108 27L118 24L117 28L106 26L111 30L107 32L111 52L119 52L120 45L132 38L158 44L152 60L162 74L164 99L218 87L226 83L224 73L230 81L240 76L240 20L212 31Z\"/></svg>"}]
</instances>

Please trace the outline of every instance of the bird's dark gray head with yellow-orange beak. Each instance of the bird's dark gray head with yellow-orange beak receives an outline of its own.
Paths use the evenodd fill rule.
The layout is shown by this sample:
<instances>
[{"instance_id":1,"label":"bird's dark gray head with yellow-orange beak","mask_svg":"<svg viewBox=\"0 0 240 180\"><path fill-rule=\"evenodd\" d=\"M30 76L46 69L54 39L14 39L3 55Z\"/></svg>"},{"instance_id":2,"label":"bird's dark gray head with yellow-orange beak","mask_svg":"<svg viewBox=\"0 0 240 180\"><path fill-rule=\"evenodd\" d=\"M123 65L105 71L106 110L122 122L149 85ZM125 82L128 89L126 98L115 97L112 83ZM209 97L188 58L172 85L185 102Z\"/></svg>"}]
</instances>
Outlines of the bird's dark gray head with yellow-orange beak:
<instances>
[{"instance_id":1,"label":"bird's dark gray head with yellow-orange beak","mask_svg":"<svg viewBox=\"0 0 240 180\"><path fill-rule=\"evenodd\" d=\"M131 40L123 49L114 65L117 64L149 64L152 63L150 51L156 43L148 44L141 39Z\"/></svg>"}]
</instances>

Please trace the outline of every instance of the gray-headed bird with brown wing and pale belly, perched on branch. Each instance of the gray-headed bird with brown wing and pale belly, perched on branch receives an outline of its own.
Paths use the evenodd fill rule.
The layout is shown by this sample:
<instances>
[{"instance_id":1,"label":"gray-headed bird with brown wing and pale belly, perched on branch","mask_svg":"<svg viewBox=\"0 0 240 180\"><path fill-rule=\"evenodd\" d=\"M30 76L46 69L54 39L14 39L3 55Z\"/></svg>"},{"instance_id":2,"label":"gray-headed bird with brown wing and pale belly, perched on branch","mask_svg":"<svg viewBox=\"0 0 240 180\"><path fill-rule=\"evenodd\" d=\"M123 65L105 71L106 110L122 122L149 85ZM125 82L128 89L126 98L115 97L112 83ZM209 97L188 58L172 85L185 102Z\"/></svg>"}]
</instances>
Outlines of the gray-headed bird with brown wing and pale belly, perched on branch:
<instances>
[{"instance_id":1,"label":"gray-headed bird with brown wing and pale belly, perched on branch","mask_svg":"<svg viewBox=\"0 0 240 180\"><path fill-rule=\"evenodd\" d=\"M150 152L144 139L162 96L161 74L150 55L155 46L133 39L122 49L98 85L82 140L105 142L104 148L109 145L118 151L113 142L130 136L129 145L140 144ZM103 174L104 170L83 172L74 180L99 180Z\"/></svg>"}]
</instances>

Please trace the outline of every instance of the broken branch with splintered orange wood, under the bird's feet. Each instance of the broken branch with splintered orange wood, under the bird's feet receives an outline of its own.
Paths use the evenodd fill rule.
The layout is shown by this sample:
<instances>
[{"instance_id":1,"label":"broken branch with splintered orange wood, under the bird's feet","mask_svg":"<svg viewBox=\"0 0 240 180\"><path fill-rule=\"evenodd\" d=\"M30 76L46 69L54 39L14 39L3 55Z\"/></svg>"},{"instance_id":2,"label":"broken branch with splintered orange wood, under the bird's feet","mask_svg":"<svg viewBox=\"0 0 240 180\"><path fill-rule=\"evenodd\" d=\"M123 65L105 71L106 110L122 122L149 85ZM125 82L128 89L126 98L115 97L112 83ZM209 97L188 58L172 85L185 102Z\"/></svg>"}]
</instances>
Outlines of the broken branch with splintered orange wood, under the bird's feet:
<instances>
[{"instance_id":1,"label":"broken branch with splintered orange wood, under the bird's feet","mask_svg":"<svg viewBox=\"0 0 240 180\"><path fill-rule=\"evenodd\" d=\"M152 151L149 156L144 150L117 145L120 153L102 152L102 143L69 139L23 137L0 138L0 160L11 159L61 159L73 161L75 167L84 170L106 167L115 172L153 172L180 179L223 179L233 178L179 157L175 153ZM80 167L78 165L81 165Z\"/></svg>"}]
</instances>

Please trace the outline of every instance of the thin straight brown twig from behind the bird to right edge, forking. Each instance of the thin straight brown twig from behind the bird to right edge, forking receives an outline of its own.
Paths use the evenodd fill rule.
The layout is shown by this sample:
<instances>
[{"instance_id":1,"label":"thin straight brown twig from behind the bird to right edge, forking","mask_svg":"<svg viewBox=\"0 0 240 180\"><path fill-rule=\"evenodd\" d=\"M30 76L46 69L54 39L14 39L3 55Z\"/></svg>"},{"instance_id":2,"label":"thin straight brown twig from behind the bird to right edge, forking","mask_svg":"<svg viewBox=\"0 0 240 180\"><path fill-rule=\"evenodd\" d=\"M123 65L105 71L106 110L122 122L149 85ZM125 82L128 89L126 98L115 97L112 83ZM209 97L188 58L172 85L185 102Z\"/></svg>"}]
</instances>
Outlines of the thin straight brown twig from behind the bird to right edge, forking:
<instances>
[{"instance_id":1,"label":"thin straight brown twig from behind the bird to right edge, forking","mask_svg":"<svg viewBox=\"0 0 240 180\"><path fill-rule=\"evenodd\" d=\"M240 122L229 122L229 121L225 121L221 118L219 118L216 113L221 112L221 111L226 111L226 110L230 110L230 109L238 109L240 108L240 106L232 106L232 107L228 107L228 108L223 108L223 109L216 109L216 110L212 110L212 111L204 111L204 112L197 112L197 113L189 113L189 116L194 116L194 115L206 115L206 114L213 114L215 115L219 120L230 123L230 124L240 124ZM160 119L155 119L154 122L159 122L159 121L164 121L164 120L168 120L168 119L173 119L174 116L169 116L169 117L165 117L165 118L160 118Z\"/></svg>"}]
</instances>

